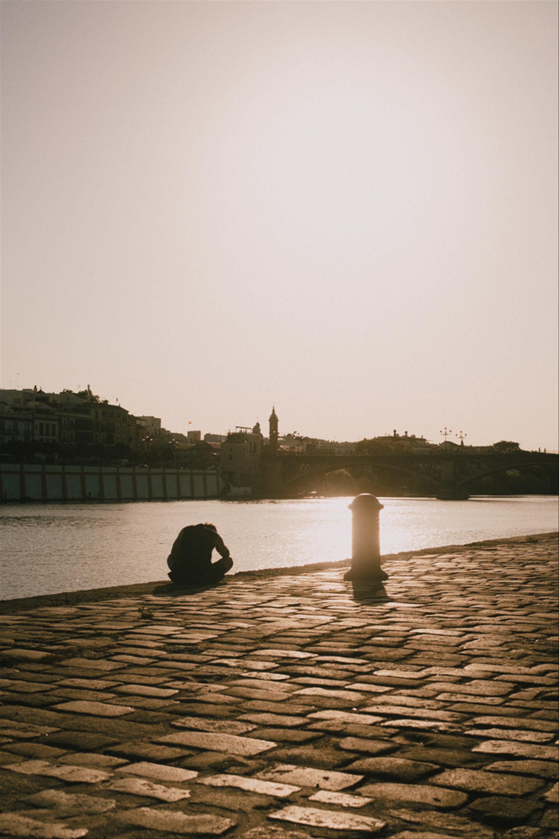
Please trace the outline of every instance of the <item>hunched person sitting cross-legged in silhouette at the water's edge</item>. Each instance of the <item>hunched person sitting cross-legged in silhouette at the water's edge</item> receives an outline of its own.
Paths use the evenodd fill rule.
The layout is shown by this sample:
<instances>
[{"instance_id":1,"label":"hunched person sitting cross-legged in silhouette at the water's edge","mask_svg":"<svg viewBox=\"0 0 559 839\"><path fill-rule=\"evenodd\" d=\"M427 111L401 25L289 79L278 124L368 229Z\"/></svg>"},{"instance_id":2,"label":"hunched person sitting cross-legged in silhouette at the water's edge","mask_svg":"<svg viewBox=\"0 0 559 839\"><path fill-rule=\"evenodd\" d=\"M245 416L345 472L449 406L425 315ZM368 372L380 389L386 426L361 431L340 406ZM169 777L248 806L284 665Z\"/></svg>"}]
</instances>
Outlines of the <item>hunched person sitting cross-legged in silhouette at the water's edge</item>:
<instances>
[{"instance_id":1,"label":"hunched person sitting cross-legged in silhouette at the water's edge","mask_svg":"<svg viewBox=\"0 0 559 839\"><path fill-rule=\"evenodd\" d=\"M212 563L212 550L222 559ZM223 579L232 568L229 549L215 524L191 524L175 539L167 558L170 579L182 586L206 586Z\"/></svg>"}]
</instances>

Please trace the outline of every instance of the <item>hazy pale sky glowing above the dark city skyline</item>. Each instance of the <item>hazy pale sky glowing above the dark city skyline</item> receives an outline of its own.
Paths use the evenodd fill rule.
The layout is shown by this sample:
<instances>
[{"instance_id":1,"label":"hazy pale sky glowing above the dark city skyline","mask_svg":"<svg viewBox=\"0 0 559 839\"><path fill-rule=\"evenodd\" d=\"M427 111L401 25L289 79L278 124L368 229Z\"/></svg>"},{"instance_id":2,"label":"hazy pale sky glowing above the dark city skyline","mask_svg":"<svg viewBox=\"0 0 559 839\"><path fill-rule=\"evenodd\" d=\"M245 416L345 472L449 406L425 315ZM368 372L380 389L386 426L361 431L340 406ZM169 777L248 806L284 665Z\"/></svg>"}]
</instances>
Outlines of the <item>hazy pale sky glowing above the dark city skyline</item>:
<instances>
[{"instance_id":1,"label":"hazy pale sky glowing above the dark city skyline","mask_svg":"<svg viewBox=\"0 0 559 839\"><path fill-rule=\"evenodd\" d=\"M3 3L2 386L558 449L556 12Z\"/></svg>"}]
</instances>

